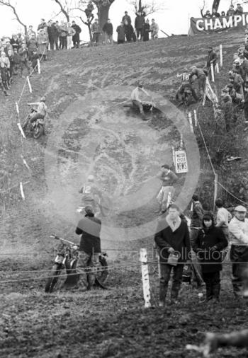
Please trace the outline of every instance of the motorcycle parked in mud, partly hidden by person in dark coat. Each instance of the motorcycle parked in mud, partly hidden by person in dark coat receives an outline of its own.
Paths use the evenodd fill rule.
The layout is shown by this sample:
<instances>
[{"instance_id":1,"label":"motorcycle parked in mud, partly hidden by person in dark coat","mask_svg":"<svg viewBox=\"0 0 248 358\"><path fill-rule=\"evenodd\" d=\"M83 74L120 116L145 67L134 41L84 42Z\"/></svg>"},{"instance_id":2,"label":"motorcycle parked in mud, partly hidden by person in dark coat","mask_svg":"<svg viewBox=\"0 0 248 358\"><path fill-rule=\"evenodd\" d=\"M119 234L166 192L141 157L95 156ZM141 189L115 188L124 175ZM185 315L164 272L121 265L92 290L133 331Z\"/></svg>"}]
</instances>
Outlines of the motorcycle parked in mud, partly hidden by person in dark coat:
<instances>
[{"instance_id":1,"label":"motorcycle parked in mud, partly hidden by person in dark coat","mask_svg":"<svg viewBox=\"0 0 248 358\"><path fill-rule=\"evenodd\" d=\"M57 250L55 262L52 265L50 276L47 277L45 283L45 292L51 293L55 289L55 285L60 278L60 275L66 270L66 279L63 283L63 287L67 289L77 286L79 281L79 273L77 272L77 261L79 259L79 246L72 241L65 240L59 236L52 235L50 238L60 240L60 246ZM103 289L106 289L105 283L108 279L108 262L106 260L107 254L101 253L98 257L99 265L96 267L95 273L95 285Z\"/></svg>"}]
</instances>

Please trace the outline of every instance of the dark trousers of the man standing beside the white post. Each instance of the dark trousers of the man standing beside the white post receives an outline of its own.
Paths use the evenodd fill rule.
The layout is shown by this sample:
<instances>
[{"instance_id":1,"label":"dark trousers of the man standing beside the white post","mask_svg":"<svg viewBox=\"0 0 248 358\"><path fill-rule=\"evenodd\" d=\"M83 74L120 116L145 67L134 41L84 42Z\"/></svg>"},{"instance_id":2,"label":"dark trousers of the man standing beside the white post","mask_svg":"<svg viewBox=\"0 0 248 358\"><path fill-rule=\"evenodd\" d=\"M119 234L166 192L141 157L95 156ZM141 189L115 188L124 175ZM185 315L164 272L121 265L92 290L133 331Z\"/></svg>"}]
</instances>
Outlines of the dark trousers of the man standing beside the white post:
<instances>
[{"instance_id":1,"label":"dark trousers of the man standing beside the white post","mask_svg":"<svg viewBox=\"0 0 248 358\"><path fill-rule=\"evenodd\" d=\"M183 277L184 264L179 263L176 266L168 265L167 263L160 263L160 286L159 286L159 301L164 302L167 296L169 279L171 277L171 270L173 268L171 299L176 299L179 295L181 281Z\"/></svg>"}]
</instances>

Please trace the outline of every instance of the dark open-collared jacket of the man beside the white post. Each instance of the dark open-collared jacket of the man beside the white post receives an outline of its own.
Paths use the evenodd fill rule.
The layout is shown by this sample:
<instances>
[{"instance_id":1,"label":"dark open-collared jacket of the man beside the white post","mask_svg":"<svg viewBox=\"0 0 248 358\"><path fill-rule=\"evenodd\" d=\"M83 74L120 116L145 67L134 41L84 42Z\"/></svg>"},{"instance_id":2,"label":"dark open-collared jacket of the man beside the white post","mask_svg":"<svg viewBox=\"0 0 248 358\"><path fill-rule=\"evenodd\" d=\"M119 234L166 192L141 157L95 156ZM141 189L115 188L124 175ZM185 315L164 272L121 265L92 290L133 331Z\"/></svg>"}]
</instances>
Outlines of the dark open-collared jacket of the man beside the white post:
<instances>
[{"instance_id":1,"label":"dark open-collared jacket of the man beside the white post","mask_svg":"<svg viewBox=\"0 0 248 358\"><path fill-rule=\"evenodd\" d=\"M169 248L174 248L174 250L179 253L179 262L186 262L189 259L191 247L188 226L180 217L176 220L175 226L169 218L169 215L165 221L161 219L157 226L154 241L159 248L160 262L167 262L169 258Z\"/></svg>"}]
</instances>

